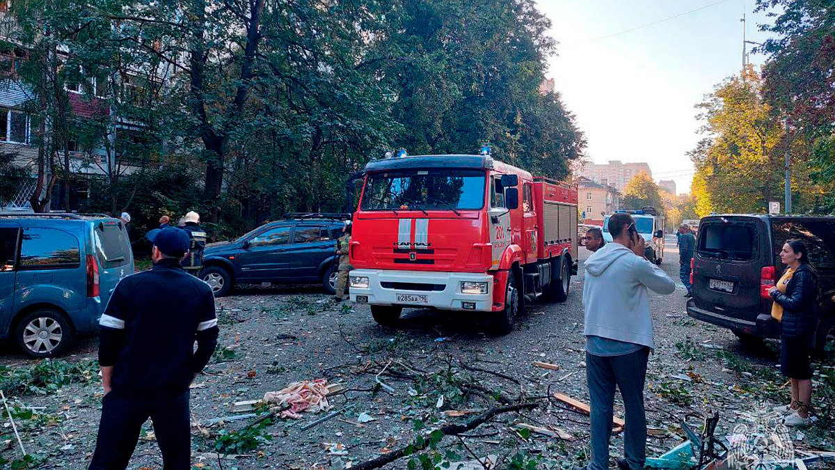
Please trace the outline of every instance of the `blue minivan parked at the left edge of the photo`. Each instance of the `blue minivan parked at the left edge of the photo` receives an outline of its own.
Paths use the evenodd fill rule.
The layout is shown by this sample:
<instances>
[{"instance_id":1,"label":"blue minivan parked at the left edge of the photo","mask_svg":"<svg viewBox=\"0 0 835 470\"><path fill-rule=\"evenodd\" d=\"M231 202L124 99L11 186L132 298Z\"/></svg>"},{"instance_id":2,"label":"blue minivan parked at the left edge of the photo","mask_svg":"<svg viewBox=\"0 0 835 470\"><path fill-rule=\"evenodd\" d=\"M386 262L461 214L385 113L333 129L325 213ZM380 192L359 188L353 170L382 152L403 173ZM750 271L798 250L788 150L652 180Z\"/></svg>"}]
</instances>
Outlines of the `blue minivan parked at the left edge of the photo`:
<instances>
[{"instance_id":1,"label":"blue minivan parked at the left edge of the photo","mask_svg":"<svg viewBox=\"0 0 835 470\"><path fill-rule=\"evenodd\" d=\"M0 340L31 357L61 355L94 334L119 283L134 273L119 219L0 212Z\"/></svg>"}]
</instances>

